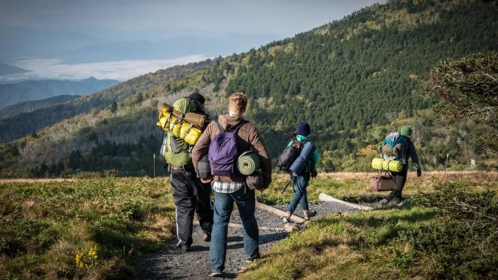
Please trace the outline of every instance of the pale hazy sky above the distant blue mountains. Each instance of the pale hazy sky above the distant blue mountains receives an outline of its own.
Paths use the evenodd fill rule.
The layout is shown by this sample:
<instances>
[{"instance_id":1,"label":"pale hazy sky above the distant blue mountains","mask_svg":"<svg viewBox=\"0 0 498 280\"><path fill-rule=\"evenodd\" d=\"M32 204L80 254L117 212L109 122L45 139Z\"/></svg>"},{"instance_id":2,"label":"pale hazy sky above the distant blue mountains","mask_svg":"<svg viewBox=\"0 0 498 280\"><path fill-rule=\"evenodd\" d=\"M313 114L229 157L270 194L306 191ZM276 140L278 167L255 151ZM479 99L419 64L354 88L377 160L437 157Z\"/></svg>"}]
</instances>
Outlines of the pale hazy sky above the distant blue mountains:
<instances>
[{"instance_id":1,"label":"pale hazy sky above the distant blue mountains","mask_svg":"<svg viewBox=\"0 0 498 280\"><path fill-rule=\"evenodd\" d=\"M0 23L47 30L180 26L290 36L375 2L385 0L0 0Z\"/></svg>"}]
</instances>

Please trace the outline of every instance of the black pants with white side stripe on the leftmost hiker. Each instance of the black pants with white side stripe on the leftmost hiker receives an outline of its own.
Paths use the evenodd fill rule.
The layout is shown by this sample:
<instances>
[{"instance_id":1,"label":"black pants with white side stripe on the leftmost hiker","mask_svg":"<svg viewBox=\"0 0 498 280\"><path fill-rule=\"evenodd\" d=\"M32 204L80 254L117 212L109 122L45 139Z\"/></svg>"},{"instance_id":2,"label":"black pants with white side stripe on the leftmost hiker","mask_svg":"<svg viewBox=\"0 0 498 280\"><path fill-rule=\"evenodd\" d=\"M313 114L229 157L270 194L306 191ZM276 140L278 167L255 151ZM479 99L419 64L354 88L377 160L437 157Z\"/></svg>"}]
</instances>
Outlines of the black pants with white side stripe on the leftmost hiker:
<instances>
[{"instance_id":1,"label":"black pants with white side stripe on the leftmost hiker","mask_svg":"<svg viewBox=\"0 0 498 280\"><path fill-rule=\"evenodd\" d=\"M173 201L176 206L176 236L178 246L192 244L194 212L202 231L211 236L213 209L211 208L211 184L203 184L195 171L190 169L171 170Z\"/></svg>"}]
</instances>

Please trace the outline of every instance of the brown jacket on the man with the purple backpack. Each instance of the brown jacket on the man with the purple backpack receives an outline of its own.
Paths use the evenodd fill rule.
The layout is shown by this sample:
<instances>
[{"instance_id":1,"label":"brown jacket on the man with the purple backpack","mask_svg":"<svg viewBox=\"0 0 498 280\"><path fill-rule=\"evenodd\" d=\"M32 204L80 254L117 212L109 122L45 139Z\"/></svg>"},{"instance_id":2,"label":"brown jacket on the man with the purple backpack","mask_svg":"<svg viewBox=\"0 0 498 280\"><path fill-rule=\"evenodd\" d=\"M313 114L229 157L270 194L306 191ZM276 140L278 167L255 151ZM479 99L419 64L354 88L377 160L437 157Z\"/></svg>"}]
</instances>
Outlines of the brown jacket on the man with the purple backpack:
<instances>
[{"instance_id":1,"label":"brown jacket on the man with the purple backpack","mask_svg":"<svg viewBox=\"0 0 498 280\"><path fill-rule=\"evenodd\" d=\"M230 116L223 115L218 118L220 125L226 129L227 125L232 127L237 126L242 122L243 118L241 116ZM220 133L220 129L215 122L211 122L206 130L202 133L199 140L192 150L192 162L194 163L195 171L197 172L197 162L208 153L209 144L211 140ZM249 150L252 150L259 156L261 161L261 171L263 172L264 186L267 188L271 183L271 158L268 152L268 147L263 140L261 134L257 129L250 123L244 124L237 133L237 142L239 148L239 154ZM244 182L245 176L242 174L234 174L231 177L226 176L215 176L215 181L222 182Z\"/></svg>"}]
</instances>

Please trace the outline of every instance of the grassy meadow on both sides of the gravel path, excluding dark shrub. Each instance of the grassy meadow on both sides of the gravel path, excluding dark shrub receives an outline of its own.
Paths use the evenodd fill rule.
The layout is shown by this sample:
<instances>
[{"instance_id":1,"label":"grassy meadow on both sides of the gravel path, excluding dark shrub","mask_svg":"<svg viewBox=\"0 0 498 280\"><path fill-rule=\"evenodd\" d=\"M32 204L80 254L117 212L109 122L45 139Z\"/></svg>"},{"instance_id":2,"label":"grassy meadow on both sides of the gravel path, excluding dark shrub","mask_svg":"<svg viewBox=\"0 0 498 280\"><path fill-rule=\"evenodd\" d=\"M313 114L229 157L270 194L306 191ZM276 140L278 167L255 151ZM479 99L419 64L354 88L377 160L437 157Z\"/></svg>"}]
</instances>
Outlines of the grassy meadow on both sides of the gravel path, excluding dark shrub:
<instances>
[{"instance_id":1,"label":"grassy meadow on both sides of the gravel path, excluding dark shrub","mask_svg":"<svg viewBox=\"0 0 498 280\"><path fill-rule=\"evenodd\" d=\"M320 174L311 181L309 200L318 202L321 192L337 198L371 194L372 175ZM437 193L450 182L481 195L496 190L497 178L497 173L417 178L410 172L404 193ZM275 175L258 200L288 203L292 186L280 193L287 181ZM2 279L132 279L148 253L174 239L168 178L3 180L0 194ZM438 262L417 249L423 240L410 233L440 222L441 212L411 200L403 209L313 220L307 231L292 233L265 252L239 279L431 279Z\"/></svg>"}]
</instances>

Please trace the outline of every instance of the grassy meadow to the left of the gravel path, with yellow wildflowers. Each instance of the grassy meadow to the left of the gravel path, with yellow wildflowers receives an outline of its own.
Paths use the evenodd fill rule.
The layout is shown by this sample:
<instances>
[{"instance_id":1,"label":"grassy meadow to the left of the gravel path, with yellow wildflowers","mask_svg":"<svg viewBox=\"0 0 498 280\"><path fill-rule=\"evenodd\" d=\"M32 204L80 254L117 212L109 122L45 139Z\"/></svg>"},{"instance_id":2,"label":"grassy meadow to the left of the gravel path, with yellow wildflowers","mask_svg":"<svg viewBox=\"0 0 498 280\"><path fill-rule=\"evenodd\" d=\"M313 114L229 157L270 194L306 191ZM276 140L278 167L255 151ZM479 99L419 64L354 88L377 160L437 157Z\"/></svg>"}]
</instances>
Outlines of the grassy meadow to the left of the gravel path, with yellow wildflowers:
<instances>
[{"instance_id":1,"label":"grassy meadow to the left of the gravel path, with yellow wildflowers","mask_svg":"<svg viewBox=\"0 0 498 280\"><path fill-rule=\"evenodd\" d=\"M164 179L0 182L0 278L130 279L172 239Z\"/></svg>"}]
</instances>

